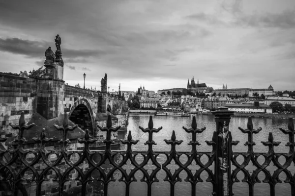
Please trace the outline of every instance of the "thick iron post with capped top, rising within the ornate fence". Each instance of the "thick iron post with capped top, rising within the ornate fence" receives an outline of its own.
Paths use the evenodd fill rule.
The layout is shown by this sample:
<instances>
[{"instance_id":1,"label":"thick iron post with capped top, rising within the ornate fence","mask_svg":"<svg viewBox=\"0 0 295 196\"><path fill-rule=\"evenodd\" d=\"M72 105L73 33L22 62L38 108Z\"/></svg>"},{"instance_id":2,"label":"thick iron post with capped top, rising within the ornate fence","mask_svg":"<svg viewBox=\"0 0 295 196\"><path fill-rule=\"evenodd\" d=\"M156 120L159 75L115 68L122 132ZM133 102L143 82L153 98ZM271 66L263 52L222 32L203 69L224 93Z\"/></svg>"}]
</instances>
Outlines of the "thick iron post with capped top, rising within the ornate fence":
<instances>
[{"instance_id":1,"label":"thick iron post with capped top, rising within the ornate fence","mask_svg":"<svg viewBox=\"0 0 295 196\"><path fill-rule=\"evenodd\" d=\"M215 116L216 133L214 134L217 153L215 154L215 182L213 195L233 196L231 186L231 137L229 134L229 124L234 111L229 111L227 107L218 107L212 112Z\"/></svg>"}]
</instances>

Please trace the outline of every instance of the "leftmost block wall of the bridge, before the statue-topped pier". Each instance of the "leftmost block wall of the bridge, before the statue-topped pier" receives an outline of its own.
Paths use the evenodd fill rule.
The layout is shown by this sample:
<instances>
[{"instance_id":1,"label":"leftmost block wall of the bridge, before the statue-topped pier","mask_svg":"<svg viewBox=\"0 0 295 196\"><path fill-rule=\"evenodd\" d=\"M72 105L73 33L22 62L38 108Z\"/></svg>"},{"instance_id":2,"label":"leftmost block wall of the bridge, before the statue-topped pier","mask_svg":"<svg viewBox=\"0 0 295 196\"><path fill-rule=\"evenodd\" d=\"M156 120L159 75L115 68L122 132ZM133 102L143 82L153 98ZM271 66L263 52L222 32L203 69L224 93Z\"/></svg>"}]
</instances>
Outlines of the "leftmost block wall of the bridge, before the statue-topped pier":
<instances>
[{"instance_id":1,"label":"leftmost block wall of the bridge, before the statue-topped pier","mask_svg":"<svg viewBox=\"0 0 295 196\"><path fill-rule=\"evenodd\" d=\"M37 80L0 74L0 135L11 138L17 132L9 123L18 123L24 111L28 122L37 106ZM8 140L9 142L10 140Z\"/></svg>"}]
</instances>

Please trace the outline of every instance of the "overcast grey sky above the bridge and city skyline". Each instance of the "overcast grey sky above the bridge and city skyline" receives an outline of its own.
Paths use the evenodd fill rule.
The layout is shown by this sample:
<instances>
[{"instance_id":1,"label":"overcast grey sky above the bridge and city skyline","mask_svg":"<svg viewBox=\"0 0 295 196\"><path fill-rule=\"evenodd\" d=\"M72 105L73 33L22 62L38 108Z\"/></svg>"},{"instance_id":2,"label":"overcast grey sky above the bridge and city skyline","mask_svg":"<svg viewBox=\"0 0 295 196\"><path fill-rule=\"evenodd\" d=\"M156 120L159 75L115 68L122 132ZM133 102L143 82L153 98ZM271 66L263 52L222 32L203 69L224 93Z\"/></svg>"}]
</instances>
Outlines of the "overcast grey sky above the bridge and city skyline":
<instances>
[{"instance_id":1,"label":"overcast grey sky above the bridge and city skyline","mask_svg":"<svg viewBox=\"0 0 295 196\"><path fill-rule=\"evenodd\" d=\"M39 68L57 34L69 85L295 90L295 0L3 0L0 71Z\"/></svg>"}]
</instances>

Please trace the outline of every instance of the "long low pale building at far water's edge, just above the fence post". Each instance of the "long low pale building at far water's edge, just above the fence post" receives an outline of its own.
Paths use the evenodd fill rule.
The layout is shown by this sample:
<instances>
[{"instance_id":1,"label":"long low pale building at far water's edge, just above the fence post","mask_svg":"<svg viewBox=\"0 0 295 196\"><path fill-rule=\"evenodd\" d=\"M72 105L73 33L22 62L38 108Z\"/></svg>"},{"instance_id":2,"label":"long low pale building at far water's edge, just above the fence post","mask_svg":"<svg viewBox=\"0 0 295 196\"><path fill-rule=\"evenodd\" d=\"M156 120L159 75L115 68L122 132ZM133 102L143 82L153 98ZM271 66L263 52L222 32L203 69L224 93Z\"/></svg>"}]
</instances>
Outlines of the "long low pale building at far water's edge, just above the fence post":
<instances>
[{"instance_id":1,"label":"long low pale building at far water's edge, just above the fence post","mask_svg":"<svg viewBox=\"0 0 295 196\"><path fill-rule=\"evenodd\" d=\"M224 104L223 106L228 107L230 111L240 113L267 113L272 114L272 109L266 104L260 104L259 101L252 103L243 104Z\"/></svg>"}]
</instances>

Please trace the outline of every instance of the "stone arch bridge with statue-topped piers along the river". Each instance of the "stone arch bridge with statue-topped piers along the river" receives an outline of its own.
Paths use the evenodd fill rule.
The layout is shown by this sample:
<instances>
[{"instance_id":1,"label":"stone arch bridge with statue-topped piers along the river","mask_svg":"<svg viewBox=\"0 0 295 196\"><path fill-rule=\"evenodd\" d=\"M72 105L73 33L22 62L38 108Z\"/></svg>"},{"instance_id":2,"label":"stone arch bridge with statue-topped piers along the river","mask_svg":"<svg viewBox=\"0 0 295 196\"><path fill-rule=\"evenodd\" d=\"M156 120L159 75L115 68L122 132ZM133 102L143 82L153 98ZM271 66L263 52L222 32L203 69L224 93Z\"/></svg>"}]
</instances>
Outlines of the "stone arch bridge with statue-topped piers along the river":
<instances>
[{"instance_id":1,"label":"stone arch bridge with statue-topped piers along the river","mask_svg":"<svg viewBox=\"0 0 295 196\"><path fill-rule=\"evenodd\" d=\"M85 129L93 136L104 135L98 132L97 124L105 125L109 114L114 125L121 125L125 130L129 108L125 101L108 95L107 74L101 79L100 91L66 85L61 50L55 55L45 60L45 74L41 78L0 73L0 137L10 138L6 143L13 140L17 133L9 123L18 123L22 111L27 123L36 124L29 137L27 135L28 139L39 137L41 128L47 128L49 137L60 139L53 124L61 125L66 112L69 112L70 123L79 126L73 131L72 139L84 137Z\"/></svg>"}]
</instances>

